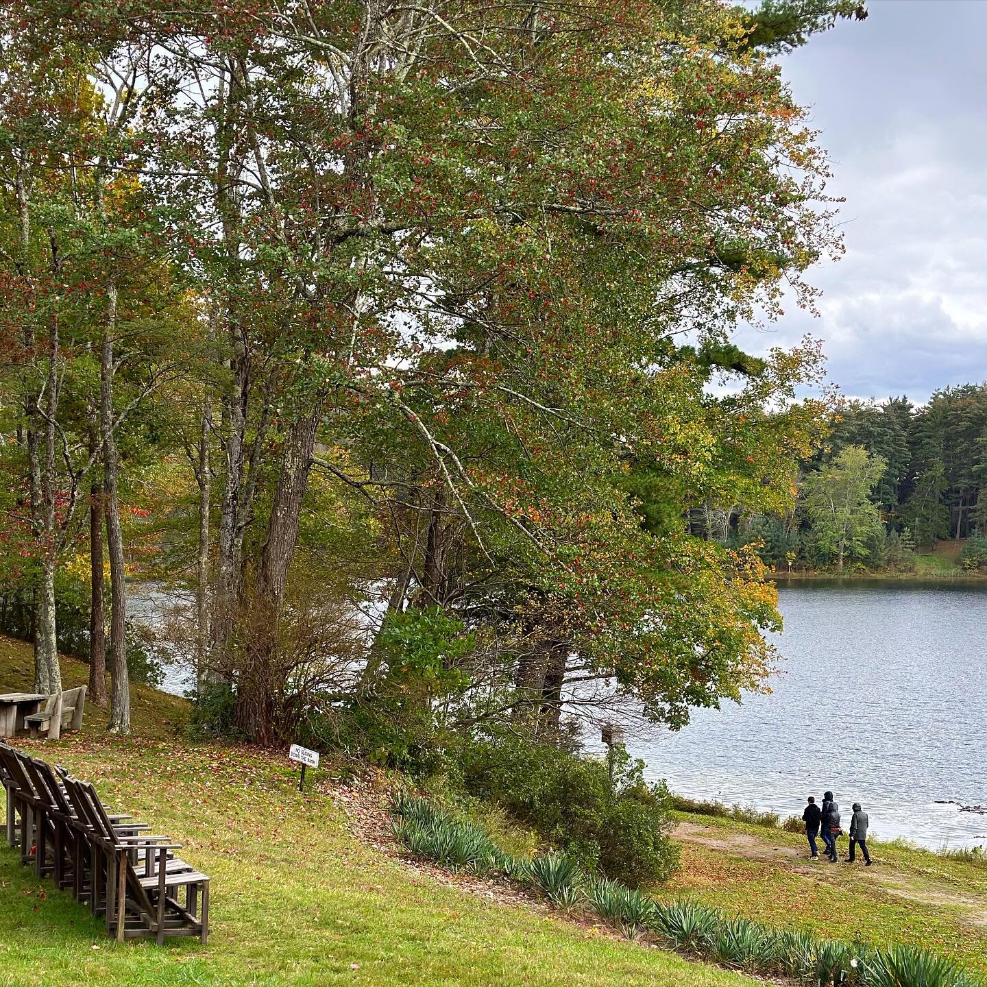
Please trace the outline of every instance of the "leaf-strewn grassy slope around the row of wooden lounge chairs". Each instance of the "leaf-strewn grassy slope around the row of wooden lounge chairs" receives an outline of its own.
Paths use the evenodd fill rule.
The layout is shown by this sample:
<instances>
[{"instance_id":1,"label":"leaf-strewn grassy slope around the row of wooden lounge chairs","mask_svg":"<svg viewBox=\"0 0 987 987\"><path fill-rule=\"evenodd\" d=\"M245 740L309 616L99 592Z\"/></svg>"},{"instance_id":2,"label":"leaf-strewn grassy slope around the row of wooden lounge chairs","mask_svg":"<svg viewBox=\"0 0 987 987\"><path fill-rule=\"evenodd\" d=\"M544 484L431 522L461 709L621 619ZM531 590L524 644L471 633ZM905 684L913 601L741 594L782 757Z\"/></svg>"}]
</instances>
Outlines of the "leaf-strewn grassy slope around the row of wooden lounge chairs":
<instances>
[{"instance_id":1,"label":"leaf-strewn grassy slope around the row of wooden lounge chairs","mask_svg":"<svg viewBox=\"0 0 987 987\"><path fill-rule=\"evenodd\" d=\"M67 685L85 671L63 662ZM0 639L0 692L30 682L30 649ZM181 700L135 687L133 705L139 732L128 740L107 736L91 708L82 733L31 746L185 843L187 859L213 878L209 946L117 946L85 908L3 848L2 987L754 983L437 886L353 839L328 795L299 795L286 762L190 747L177 732Z\"/></svg>"}]
</instances>

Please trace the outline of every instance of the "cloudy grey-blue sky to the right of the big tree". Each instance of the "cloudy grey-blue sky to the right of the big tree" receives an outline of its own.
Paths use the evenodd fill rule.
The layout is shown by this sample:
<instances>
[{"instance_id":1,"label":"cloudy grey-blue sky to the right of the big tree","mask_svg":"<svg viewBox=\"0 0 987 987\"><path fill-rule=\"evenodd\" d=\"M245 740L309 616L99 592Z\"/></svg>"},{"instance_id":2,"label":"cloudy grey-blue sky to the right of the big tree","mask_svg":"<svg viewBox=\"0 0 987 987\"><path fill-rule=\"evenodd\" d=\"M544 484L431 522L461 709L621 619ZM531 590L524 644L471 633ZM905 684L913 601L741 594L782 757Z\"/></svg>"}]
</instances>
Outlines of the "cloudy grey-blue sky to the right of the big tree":
<instances>
[{"instance_id":1,"label":"cloudy grey-blue sky to the right of the big tree","mask_svg":"<svg viewBox=\"0 0 987 987\"><path fill-rule=\"evenodd\" d=\"M871 0L785 59L845 196L847 252L750 349L821 339L844 394L987 380L987 0Z\"/></svg>"}]
</instances>

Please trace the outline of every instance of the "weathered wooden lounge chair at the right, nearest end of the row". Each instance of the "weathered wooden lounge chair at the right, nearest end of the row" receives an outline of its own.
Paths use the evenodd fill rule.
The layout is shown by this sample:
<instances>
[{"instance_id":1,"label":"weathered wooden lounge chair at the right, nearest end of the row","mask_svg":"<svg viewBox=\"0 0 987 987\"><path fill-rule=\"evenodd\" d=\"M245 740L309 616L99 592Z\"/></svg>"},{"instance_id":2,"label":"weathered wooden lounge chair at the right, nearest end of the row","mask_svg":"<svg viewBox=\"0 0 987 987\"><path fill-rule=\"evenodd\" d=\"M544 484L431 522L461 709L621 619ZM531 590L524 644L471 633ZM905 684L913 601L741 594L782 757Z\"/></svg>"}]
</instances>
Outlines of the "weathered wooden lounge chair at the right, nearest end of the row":
<instances>
[{"instance_id":1,"label":"weathered wooden lounge chair at the right, nearest end of the row","mask_svg":"<svg viewBox=\"0 0 987 987\"><path fill-rule=\"evenodd\" d=\"M118 941L154 938L160 945L166 937L197 936L205 944L209 878L174 856L182 845L166 836L120 836L92 785L71 776L63 781L92 855L90 903L94 913L105 913L107 931Z\"/></svg>"}]
</instances>

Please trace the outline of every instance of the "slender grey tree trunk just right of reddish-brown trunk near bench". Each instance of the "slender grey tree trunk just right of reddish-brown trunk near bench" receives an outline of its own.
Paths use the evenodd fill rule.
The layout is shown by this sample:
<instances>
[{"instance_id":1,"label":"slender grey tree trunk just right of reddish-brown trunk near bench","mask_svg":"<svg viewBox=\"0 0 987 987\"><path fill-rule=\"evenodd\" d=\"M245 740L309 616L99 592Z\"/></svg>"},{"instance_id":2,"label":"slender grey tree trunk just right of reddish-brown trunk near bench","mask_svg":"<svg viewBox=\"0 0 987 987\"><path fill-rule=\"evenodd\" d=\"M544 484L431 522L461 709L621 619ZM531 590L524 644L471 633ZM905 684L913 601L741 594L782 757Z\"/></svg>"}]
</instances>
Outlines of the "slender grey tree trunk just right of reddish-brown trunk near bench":
<instances>
[{"instance_id":1,"label":"slender grey tree trunk just right of reddish-brown trunk near bench","mask_svg":"<svg viewBox=\"0 0 987 987\"><path fill-rule=\"evenodd\" d=\"M130 732L130 675L126 665L126 582L118 501L119 460L114 438L114 334L116 285L107 287L107 321L100 354L100 429L103 439L104 503L110 554L110 653L113 657L112 733Z\"/></svg>"}]
</instances>

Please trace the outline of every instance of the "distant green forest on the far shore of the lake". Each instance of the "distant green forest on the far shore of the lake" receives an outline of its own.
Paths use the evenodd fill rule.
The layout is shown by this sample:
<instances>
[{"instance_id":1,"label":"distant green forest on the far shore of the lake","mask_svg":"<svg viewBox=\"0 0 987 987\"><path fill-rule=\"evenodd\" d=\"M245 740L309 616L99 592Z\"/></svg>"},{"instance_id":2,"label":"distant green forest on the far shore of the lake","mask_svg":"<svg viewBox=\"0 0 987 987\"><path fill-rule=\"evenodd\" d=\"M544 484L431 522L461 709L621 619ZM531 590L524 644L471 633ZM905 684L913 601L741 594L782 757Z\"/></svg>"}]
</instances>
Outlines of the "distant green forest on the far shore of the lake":
<instances>
[{"instance_id":1,"label":"distant green forest on the far shore of the lake","mask_svg":"<svg viewBox=\"0 0 987 987\"><path fill-rule=\"evenodd\" d=\"M969 539L965 569L987 569L987 384L848 401L802 464L785 515L703 508L693 527L753 544L774 569L910 569L916 550Z\"/></svg>"}]
</instances>

